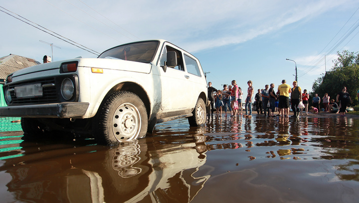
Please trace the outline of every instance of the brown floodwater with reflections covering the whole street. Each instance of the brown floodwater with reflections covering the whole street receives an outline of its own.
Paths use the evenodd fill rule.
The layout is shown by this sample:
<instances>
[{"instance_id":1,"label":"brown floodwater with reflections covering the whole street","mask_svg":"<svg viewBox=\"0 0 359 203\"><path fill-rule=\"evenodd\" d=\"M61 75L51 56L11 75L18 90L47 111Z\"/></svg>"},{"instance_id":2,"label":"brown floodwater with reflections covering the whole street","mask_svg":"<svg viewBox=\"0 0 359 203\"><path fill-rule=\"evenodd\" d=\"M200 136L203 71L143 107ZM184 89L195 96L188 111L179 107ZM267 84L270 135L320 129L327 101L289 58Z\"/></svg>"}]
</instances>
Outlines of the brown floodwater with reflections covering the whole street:
<instances>
[{"instance_id":1,"label":"brown floodwater with reflections covering the whole street","mask_svg":"<svg viewBox=\"0 0 359 203\"><path fill-rule=\"evenodd\" d=\"M118 147L0 132L3 203L358 203L359 118L207 118Z\"/></svg>"}]
</instances>

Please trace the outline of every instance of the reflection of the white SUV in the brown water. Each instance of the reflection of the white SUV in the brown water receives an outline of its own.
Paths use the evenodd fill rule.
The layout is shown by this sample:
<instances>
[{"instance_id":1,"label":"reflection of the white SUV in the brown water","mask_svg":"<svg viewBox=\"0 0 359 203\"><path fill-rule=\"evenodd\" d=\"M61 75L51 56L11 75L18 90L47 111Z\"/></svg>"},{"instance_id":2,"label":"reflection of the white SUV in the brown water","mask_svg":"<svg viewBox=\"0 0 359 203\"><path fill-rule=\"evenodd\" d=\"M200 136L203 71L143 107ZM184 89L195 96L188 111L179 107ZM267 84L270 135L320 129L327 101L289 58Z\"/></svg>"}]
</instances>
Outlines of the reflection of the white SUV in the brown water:
<instances>
[{"instance_id":1,"label":"reflection of the white SUV in the brown water","mask_svg":"<svg viewBox=\"0 0 359 203\"><path fill-rule=\"evenodd\" d=\"M7 159L0 170L11 175L8 191L23 202L190 202L209 178L195 177L206 161L205 136L176 136L173 142L171 137L143 138L113 149L41 150L45 145L23 142L27 155Z\"/></svg>"}]
</instances>

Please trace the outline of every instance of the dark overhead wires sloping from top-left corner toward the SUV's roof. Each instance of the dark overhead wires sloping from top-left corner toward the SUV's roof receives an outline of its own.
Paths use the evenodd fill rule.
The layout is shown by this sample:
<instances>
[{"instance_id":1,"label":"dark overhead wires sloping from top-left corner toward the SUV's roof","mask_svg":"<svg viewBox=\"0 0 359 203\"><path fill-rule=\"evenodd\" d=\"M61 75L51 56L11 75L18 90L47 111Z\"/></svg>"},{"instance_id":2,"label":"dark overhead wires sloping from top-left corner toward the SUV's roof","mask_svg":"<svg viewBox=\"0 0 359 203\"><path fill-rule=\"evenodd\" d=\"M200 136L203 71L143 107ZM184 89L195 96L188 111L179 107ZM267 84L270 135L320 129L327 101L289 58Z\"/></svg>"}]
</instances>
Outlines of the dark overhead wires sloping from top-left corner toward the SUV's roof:
<instances>
[{"instance_id":1,"label":"dark overhead wires sloping from top-left corner toward the SUV's roof","mask_svg":"<svg viewBox=\"0 0 359 203\"><path fill-rule=\"evenodd\" d=\"M30 23L28 23L28 22L26 22L26 21L24 21L24 20L22 20L22 19L20 19L20 18L18 18L18 17L16 17L16 16L11 15L10 13L8 13L8 12L6 12L6 11L0 9L0 11L6 13L6 14L8 14L8 15L10 15L10 16L12 16L12 17L14 17L14 18L16 18L16 19L18 19L18 20L20 20L20 21L22 21L22 22L24 22L24 23L26 23L26 24L28 24L28 25L34 27L34 28L36 28L36 29L39 29L39 30L41 30L41 31L43 31L43 32L45 32L45 33L47 33L47 34L49 34L49 35L52 35L52 36L54 36L54 37L56 37L56 38L58 38L58 39L60 39L60 40L62 40L62 41L65 41L65 42L67 42L67 43L69 43L69 44L71 44L71 45L74 45L74 46L76 46L76 47L78 47L78 48L80 48L80 49L83 49L83 50L85 50L85 51L87 51L87 52L90 52L91 54L94 54L94 55L97 55L97 56L100 55L100 53L98 53L98 52L96 52L96 51L94 51L94 50L92 50L92 49L90 49L90 48L87 48L87 47L85 47L85 46L83 46L83 45L81 45L81 44L79 44L79 43L76 43L76 42L74 42L74 41L72 41L72 40L70 40L70 39L68 39L68 38L66 38L66 37L64 37L64 36L62 36L62 35L60 35L60 34L57 34L57 33L53 32L53 31L51 31L51 30L49 30L49 29L47 29L47 28L45 28L45 27L43 27L43 26L41 26L41 25L39 25L39 24L36 24L36 23L32 22L31 20L28 20L27 18L24 18L24 17L22 17L22 16L20 16L20 15L18 15L18 14L16 14L16 13L14 13L14 12L12 12L12 11L10 11L10 10L8 10L8 9L6 9L6 8L4 8L4 7L2 7L2 6L0 6L0 7L1 7L2 9L7 10L8 12L11 12L11 13L13 13L13 14L15 14L15 15L17 15L17 16L19 16L19 17L25 19L25 20L27 20L28 22L31 22L31 23L33 23L33 24L35 24L35 25L37 25L37 26L40 27L40 28L39 28L39 27L36 27L35 25L32 25L32 24L30 24ZM42 28L42 29L41 29L41 28ZM49 31L49 32L47 32L46 30ZM52 32L53 34L51 34L50 32ZM56 35L58 35L58 36L56 36ZM66 39L66 40L65 40L65 39ZM68 40L68 41L67 41L67 40ZM69 41L70 41L70 42L69 42ZM76 44L77 44L77 45L76 45ZM80 47L80 46L81 46L81 47Z\"/></svg>"}]
</instances>

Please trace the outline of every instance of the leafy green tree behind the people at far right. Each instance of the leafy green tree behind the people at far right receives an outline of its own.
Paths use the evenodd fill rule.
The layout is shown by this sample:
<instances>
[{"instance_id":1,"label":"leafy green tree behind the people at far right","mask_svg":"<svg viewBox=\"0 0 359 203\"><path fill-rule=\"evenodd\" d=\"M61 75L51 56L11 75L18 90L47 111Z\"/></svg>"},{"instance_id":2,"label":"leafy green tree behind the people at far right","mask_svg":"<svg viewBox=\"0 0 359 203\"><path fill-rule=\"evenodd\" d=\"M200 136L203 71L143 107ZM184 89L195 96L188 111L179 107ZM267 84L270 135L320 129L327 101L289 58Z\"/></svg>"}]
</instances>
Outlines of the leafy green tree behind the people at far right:
<instances>
[{"instance_id":1,"label":"leafy green tree behind the people at far right","mask_svg":"<svg viewBox=\"0 0 359 203\"><path fill-rule=\"evenodd\" d=\"M340 54L338 52L338 59L334 61L332 70L314 81L312 94L318 94L322 98L325 93L328 93L331 99L336 100L338 92L346 86L353 104L358 104L359 54L355 54L357 53L343 51Z\"/></svg>"}]
</instances>

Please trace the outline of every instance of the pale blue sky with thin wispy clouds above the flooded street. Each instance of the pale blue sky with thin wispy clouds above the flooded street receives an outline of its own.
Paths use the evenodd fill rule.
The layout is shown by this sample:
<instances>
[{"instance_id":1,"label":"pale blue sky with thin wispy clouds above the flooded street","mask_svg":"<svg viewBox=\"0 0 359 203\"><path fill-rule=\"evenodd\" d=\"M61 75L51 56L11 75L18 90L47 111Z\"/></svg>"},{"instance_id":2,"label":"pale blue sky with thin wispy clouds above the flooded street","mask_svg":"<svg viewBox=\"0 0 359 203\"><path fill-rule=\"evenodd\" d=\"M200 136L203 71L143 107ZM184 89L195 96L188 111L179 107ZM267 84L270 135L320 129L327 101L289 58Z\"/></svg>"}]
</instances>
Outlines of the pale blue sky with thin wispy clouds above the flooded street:
<instances>
[{"instance_id":1,"label":"pale blue sky with thin wispy clouds above the flooded street","mask_svg":"<svg viewBox=\"0 0 359 203\"><path fill-rule=\"evenodd\" d=\"M359 51L358 0L11 0L0 6L99 53L169 40L196 56L218 89L233 79L243 90L248 80L255 89L282 79L292 85L295 63L288 58L297 63L299 86L311 91L337 51ZM61 48L53 48L55 61L96 57L4 12L0 19L0 57L42 62L51 49L39 40Z\"/></svg>"}]
</instances>

